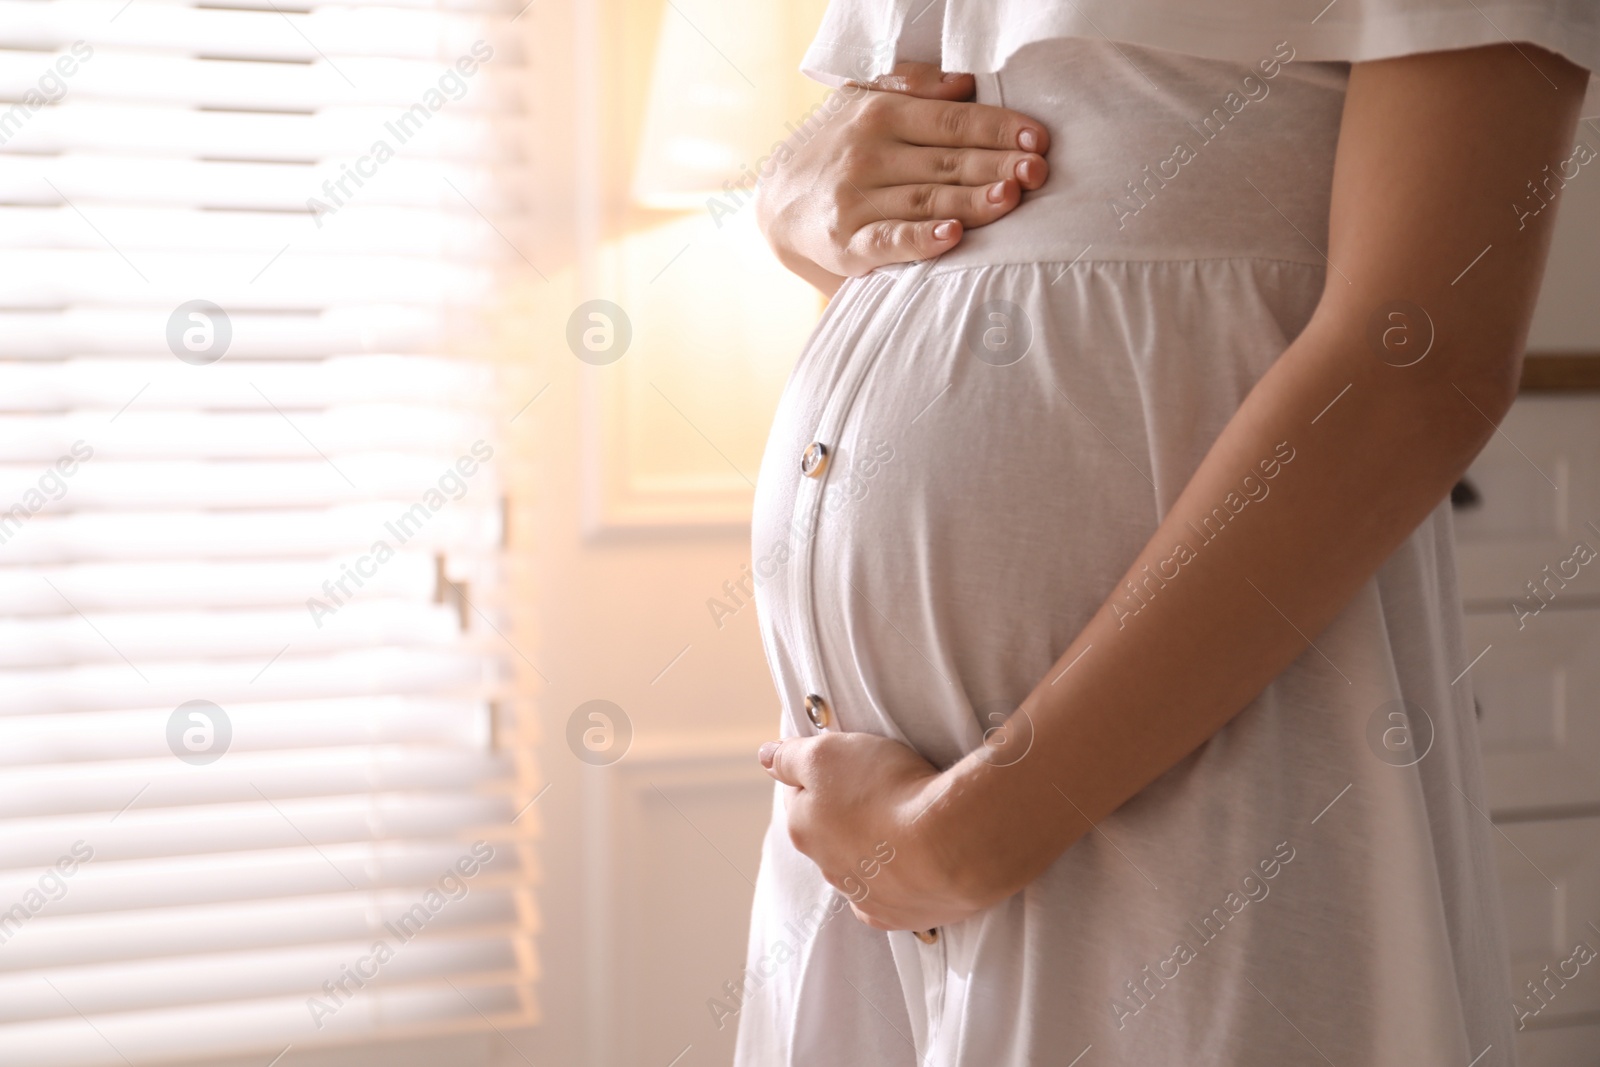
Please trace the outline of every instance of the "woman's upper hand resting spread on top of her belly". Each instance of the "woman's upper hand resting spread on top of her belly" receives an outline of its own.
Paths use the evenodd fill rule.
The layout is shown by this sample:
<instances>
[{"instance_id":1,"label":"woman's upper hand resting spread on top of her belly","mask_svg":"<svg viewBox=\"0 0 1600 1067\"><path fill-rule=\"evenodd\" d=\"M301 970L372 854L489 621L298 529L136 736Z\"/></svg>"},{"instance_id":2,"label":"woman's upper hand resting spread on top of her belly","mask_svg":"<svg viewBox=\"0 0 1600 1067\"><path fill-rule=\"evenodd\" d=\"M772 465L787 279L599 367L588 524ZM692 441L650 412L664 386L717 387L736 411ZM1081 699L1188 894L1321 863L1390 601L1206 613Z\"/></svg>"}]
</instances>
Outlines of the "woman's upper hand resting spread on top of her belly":
<instances>
[{"instance_id":1,"label":"woman's upper hand resting spread on top of her belly","mask_svg":"<svg viewBox=\"0 0 1600 1067\"><path fill-rule=\"evenodd\" d=\"M944 80L949 77L950 80ZM1003 107L965 102L971 75L902 62L838 90L762 181L757 221L778 259L829 296L846 277L946 253L1045 184L1050 133Z\"/></svg>"}]
</instances>

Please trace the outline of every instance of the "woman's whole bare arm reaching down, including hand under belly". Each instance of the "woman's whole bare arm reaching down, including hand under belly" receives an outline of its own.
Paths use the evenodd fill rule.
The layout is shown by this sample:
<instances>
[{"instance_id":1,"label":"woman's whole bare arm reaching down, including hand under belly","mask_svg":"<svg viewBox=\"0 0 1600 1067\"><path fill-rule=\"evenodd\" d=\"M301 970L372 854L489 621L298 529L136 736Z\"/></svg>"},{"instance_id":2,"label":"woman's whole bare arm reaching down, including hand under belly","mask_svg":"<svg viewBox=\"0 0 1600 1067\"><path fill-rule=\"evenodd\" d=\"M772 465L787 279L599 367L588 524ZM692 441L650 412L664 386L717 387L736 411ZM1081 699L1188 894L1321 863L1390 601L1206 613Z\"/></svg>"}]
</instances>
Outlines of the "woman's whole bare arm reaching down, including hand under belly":
<instances>
[{"instance_id":1,"label":"woman's whole bare arm reaching down, including hand under belly","mask_svg":"<svg viewBox=\"0 0 1600 1067\"><path fill-rule=\"evenodd\" d=\"M1514 205L1571 154L1586 83L1530 45L1354 66L1322 301L1126 581L1192 544L1189 523L1291 448L1270 502L1240 512L1138 616L1123 589L1107 598L1022 704L1034 742L1016 765L979 752L934 774L886 760L894 742L864 734L763 750L774 777L798 787L794 840L830 878L875 841L894 843L858 915L925 928L1026 886L1306 654L1307 635L1445 498L1515 397L1555 211L1522 218ZM1432 349L1410 366L1395 363L1414 358L1427 325L1386 317L1395 301L1432 322ZM1344 683L1309 654L1330 685Z\"/></svg>"}]
</instances>

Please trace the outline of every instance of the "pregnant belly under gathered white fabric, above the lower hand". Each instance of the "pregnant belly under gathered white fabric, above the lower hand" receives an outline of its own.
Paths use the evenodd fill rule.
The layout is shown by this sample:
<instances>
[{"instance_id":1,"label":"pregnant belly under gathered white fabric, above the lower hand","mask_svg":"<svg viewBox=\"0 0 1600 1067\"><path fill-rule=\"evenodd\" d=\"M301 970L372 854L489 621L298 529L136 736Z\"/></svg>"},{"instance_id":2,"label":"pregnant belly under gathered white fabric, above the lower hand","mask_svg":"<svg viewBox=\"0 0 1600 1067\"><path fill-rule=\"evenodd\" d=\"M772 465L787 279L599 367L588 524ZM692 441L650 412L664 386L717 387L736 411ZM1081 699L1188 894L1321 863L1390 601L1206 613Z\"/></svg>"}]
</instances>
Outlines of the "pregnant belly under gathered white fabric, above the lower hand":
<instances>
[{"instance_id":1,"label":"pregnant belly under gathered white fabric, above the lower hand","mask_svg":"<svg viewBox=\"0 0 1600 1067\"><path fill-rule=\"evenodd\" d=\"M786 704L822 678L838 728L947 765L1117 592L1309 317L1322 272L909 270L910 285L899 270L848 283L802 355L763 459L754 558ZM798 458L842 403L810 512ZM810 657L821 673L802 677Z\"/></svg>"}]
</instances>

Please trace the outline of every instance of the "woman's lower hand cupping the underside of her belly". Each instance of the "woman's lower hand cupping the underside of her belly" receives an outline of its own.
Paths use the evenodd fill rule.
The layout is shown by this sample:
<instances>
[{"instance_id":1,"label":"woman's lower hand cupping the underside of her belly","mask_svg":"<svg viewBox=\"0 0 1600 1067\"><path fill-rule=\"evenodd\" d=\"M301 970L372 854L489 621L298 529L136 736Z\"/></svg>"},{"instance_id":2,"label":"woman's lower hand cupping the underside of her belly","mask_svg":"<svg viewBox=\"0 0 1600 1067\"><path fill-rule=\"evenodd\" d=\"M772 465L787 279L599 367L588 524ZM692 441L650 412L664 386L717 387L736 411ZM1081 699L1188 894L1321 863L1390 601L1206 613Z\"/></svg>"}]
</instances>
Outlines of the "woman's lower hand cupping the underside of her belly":
<instances>
[{"instance_id":1,"label":"woman's lower hand cupping the underside of her belly","mask_svg":"<svg viewBox=\"0 0 1600 1067\"><path fill-rule=\"evenodd\" d=\"M864 733L762 745L762 766L789 785L789 838L878 929L930 929L974 913L955 889L933 817L939 773L912 749ZM941 809L946 808L941 805Z\"/></svg>"}]
</instances>

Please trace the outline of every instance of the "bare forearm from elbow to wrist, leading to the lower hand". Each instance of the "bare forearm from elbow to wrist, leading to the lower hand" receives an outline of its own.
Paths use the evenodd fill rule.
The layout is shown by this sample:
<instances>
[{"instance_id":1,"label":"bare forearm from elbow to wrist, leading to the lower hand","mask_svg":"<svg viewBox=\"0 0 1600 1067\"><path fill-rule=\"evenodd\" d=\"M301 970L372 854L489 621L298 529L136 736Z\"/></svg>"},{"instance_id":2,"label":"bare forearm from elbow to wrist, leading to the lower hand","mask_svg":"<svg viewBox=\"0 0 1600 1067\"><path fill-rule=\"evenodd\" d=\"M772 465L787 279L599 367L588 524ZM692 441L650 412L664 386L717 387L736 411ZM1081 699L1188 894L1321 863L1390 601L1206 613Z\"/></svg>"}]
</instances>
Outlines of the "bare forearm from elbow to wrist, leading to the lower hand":
<instances>
[{"instance_id":1,"label":"bare forearm from elbow to wrist, leading to the lower hand","mask_svg":"<svg viewBox=\"0 0 1600 1067\"><path fill-rule=\"evenodd\" d=\"M963 893L990 904L1032 881L1296 657L1314 657L1330 685L1354 683L1336 651L1307 641L1450 491L1507 406L1498 382L1453 384L1461 392L1403 379L1350 331L1294 341L1022 704L1027 757L1006 766L981 752L947 773L936 809L966 811L936 840L976 877ZM1013 731L1021 742L1026 726ZM1014 822L1005 811L1027 811L1032 832L986 832Z\"/></svg>"}]
</instances>

